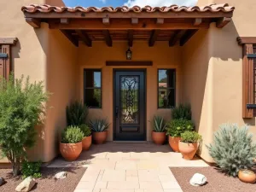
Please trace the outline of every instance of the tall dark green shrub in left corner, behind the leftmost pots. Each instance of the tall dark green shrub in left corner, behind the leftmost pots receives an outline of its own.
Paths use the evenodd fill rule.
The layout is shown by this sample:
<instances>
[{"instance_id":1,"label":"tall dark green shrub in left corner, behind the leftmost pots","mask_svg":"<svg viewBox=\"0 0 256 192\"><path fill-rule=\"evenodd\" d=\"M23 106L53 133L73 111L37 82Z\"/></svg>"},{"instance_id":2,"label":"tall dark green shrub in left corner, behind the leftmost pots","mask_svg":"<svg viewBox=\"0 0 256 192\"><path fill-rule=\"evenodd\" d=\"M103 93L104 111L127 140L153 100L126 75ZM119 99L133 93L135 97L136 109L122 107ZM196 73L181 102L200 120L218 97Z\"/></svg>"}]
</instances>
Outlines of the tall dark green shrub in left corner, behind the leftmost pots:
<instances>
[{"instance_id":1,"label":"tall dark green shrub in left corner, behind the leftmost pots","mask_svg":"<svg viewBox=\"0 0 256 192\"><path fill-rule=\"evenodd\" d=\"M85 124L88 108L82 102L73 102L66 108L67 125L83 125Z\"/></svg>"}]
</instances>

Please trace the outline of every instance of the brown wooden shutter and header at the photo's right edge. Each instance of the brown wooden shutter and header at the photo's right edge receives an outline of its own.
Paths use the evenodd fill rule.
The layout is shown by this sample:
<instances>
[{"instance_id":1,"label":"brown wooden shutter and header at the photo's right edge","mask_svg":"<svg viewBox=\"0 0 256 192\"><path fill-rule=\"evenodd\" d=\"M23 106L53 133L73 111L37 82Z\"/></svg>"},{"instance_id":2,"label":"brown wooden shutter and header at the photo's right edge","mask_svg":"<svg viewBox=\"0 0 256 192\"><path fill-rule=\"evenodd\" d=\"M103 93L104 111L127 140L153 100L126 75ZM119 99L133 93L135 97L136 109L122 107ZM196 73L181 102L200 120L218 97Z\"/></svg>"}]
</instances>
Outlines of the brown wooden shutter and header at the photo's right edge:
<instances>
[{"instance_id":1,"label":"brown wooden shutter and header at the photo's right edge","mask_svg":"<svg viewBox=\"0 0 256 192\"><path fill-rule=\"evenodd\" d=\"M242 45L242 117L256 117L256 37L237 38Z\"/></svg>"}]
</instances>

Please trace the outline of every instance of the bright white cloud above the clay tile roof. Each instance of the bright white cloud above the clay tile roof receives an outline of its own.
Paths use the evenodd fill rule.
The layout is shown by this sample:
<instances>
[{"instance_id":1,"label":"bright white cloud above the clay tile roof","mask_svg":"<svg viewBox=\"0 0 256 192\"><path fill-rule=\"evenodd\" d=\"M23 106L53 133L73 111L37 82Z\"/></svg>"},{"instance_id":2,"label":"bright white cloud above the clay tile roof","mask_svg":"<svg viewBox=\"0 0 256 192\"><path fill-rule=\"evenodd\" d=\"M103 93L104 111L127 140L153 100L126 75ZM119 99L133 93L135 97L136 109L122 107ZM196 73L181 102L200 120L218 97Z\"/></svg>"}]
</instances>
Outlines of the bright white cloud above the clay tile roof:
<instances>
[{"instance_id":1,"label":"bright white cloud above the clay tile roof","mask_svg":"<svg viewBox=\"0 0 256 192\"><path fill-rule=\"evenodd\" d=\"M128 0L125 5L133 7L138 5L144 7L150 5L152 7L170 6L172 4L193 6L197 3L197 0Z\"/></svg>"}]
</instances>

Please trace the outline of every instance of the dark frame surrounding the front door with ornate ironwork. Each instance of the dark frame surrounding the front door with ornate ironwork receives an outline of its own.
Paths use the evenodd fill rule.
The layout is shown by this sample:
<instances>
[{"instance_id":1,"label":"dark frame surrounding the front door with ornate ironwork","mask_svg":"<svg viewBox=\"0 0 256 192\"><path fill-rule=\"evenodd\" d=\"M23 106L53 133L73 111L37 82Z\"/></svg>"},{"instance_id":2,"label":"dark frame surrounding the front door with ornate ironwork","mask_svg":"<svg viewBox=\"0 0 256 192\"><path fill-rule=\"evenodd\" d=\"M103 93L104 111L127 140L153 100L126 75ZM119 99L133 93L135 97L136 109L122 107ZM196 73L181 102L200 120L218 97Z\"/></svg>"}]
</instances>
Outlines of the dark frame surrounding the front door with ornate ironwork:
<instances>
[{"instance_id":1,"label":"dark frame surrounding the front door with ornate ironwork","mask_svg":"<svg viewBox=\"0 0 256 192\"><path fill-rule=\"evenodd\" d=\"M143 141L147 141L147 68L113 68L113 141L116 140L115 132L116 132L116 119L115 119L115 80L116 80L116 72L143 72L144 73L144 99L145 99L145 105L144 105L144 127L143 127ZM130 141L131 142L131 141ZM136 141L134 141L136 142Z\"/></svg>"}]
</instances>

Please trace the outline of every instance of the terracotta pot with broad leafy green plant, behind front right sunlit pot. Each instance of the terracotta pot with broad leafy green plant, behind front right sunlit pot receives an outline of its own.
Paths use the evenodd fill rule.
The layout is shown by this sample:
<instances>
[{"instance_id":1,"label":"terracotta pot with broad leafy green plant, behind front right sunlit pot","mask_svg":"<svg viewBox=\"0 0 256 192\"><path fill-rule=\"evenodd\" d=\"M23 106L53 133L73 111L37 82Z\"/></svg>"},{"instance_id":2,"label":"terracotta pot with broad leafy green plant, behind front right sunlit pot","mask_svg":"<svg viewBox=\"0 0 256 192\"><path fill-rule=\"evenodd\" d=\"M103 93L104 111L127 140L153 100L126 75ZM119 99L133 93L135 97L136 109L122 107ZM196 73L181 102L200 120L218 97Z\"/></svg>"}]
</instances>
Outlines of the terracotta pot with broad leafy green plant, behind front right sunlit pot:
<instances>
[{"instance_id":1,"label":"terracotta pot with broad leafy green plant, behind front right sunlit pot","mask_svg":"<svg viewBox=\"0 0 256 192\"><path fill-rule=\"evenodd\" d=\"M185 131L193 131L194 124L188 119L173 119L166 125L166 135L169 136L169 144L173 151L179 152L178 143L181 134Z\"/></svg>"}]
</instances>

